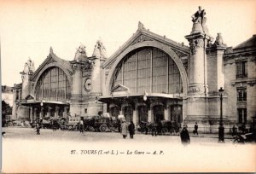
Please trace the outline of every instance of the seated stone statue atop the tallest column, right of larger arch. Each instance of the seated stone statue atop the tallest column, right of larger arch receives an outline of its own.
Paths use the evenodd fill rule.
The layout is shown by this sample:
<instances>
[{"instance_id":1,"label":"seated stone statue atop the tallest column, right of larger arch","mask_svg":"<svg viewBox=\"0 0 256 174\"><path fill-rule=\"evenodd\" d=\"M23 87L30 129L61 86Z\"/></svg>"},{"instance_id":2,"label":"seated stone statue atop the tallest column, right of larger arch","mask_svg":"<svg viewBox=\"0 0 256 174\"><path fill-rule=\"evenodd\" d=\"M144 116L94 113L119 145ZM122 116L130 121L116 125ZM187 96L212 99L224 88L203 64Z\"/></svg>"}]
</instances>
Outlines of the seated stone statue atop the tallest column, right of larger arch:
<instances>
[{"instance_id":1,"label":"seated stone statue atop the tallest column, right of larger arch","mask_svg":"<svg viewBox=\"0 0 256 174\"><path fill-rule=\"evenodd\" d=\"M201 6L199 6L195 14L191 16L193 21L193 28L191 34L196 32L204 32L208 34L208 29L206 26L207 17L205 17L206 14L206 11L204 9L201 9Z\"/></svg>"}]
</instances>

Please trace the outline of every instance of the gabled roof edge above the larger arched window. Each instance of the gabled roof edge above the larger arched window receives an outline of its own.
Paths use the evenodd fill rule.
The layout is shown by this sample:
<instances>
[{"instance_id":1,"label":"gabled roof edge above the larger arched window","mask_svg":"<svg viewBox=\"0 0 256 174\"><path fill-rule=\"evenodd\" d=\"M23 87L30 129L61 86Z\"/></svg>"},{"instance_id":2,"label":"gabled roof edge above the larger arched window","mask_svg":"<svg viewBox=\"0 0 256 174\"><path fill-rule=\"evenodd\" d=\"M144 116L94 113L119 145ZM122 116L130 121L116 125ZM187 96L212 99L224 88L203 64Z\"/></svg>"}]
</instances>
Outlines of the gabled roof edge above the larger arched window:
<instances>
[{"instance_id":1,"label":"gabled roof edge above the larger arched window","mask_svg":"<svg viewBox=\"0 0 256 174\"><path fill-rule=\"evenodd\" d=\"M140 23L139 23L140 24ZM184 44L179 44L169 38L166 38L166 36L160 36L158 34L155 34L154 32L150 32L149 30L146 30L144 27L138 27L137 32L134 33L131 38L129 38L125 44L123 44L116 52L113 53L113 55L110 56L108 61L106 61L102 67L107 67L109 64L112 64L113 61L115 61L116 57L120 55L125 49L127 49L132 44L137 44L138 42L141 42L141 39L143 40L155 40L162 44L167 44L172 47L174 51L181 52L184 55L189 55L189 47Z\"/></svg>"}]
</instances>

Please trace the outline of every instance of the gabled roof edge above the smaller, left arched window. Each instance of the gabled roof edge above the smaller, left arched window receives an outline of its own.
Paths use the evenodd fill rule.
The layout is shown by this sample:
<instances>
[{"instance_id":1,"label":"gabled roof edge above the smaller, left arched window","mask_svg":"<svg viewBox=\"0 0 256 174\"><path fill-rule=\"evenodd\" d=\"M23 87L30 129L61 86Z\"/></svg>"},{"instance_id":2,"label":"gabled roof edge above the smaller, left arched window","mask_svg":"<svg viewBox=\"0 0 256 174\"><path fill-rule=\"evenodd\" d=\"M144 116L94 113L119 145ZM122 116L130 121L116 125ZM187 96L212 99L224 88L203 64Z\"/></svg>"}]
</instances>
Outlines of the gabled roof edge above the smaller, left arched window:
<instances>
[{"instance_id":1,"label":"gabled roof edge above the smaller, left arched window","mask_svg":"<svg viewBox=\"0 0 256 174\"><path fill-rule=\"evenodd\" d=\"M57 55L55 55L52 48L50 48L49 55L44 60L44 62L38 67L38 69L33 73L31 80L33 80L34 78L36 78L38 76L38 73L41 72L41 70L44 68L44 66L46 66L47 64L52 63L52 62L57 62L57 63L61 64L61 67L67 69L68 73L70 73L70 74L73 73L71 63L69 61L63 60L60 57L58 57Z\"/></svg>"}]
</instances>

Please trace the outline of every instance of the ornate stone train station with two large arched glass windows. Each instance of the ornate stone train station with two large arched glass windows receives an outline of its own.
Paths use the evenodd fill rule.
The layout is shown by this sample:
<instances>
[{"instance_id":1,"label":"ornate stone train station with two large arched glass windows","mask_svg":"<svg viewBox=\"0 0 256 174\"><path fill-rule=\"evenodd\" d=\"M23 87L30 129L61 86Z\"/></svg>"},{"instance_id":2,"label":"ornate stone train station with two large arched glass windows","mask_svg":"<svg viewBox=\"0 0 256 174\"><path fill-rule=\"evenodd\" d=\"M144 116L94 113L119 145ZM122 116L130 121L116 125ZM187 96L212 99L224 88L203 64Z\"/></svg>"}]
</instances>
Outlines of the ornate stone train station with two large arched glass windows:
<instances>
[{"instance_id":1,"label":"ornate stone train station with two large arched glass windows","mask_svg":"<svg viewBox=\"0 0 256 174\"><path fill-rule=\"evenodd\" d=\"M91 56L80 45L73 61L50 48L38 69L28 60L20 73L13 119L86 117L102 111L124 115L135 125L165 119L180 126L197 122L211 131L222 111L225 127L249 125L256 115L256 35L228 47L221 33L212 38L201 9L191 27L184 33L189 46L139 22L137 32L110 57L100 40Z\"/></svg>"}]
</instances>

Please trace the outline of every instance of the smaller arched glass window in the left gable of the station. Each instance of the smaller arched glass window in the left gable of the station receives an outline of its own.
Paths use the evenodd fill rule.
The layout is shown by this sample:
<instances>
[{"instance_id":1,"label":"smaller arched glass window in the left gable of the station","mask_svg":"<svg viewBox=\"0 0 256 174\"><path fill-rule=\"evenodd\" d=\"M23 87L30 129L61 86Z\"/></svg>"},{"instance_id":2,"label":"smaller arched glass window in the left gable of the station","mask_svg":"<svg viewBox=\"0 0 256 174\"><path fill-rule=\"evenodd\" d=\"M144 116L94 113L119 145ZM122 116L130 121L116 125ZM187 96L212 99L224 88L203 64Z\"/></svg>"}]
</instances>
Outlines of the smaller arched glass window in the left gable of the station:
<instances>
[{"instance_id":1,"label":"smaller arched glass window in the left gable of the station","mask_svg":"<svg viewBox=\"0 0 256 174\"><path fill-rule=\"evenodd\" d=\"M45 101L61 102L71 96L67 76L59 67L49 68L41 75L35 92L37 100Z\"/></svg>"}]
</instances>

